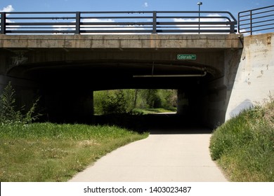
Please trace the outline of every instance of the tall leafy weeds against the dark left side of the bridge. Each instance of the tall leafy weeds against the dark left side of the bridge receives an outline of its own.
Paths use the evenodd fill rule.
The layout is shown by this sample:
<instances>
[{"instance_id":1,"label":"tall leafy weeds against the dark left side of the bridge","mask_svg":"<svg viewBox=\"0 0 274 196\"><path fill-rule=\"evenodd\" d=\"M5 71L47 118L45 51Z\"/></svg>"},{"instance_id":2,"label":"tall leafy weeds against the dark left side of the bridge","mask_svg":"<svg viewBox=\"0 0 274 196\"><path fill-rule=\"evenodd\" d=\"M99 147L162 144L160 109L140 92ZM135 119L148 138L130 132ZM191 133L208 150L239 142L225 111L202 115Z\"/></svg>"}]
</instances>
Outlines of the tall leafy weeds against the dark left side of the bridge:
<instances>
[{"instance_id":1,"label":"tall leafy weeds against the dark left side of the bridge","mask_svg":"<svg viewBox=\"0 0 274 196\"><path fill-rule=\"evenodd\" d=\"M6 85L0 96L0 123L32 123L37 120L41 114L36 113L37 99L27 113L23 113L24 107L18 109L15 100L15 90L11 82Z\"/></svg>"}]
</instances>

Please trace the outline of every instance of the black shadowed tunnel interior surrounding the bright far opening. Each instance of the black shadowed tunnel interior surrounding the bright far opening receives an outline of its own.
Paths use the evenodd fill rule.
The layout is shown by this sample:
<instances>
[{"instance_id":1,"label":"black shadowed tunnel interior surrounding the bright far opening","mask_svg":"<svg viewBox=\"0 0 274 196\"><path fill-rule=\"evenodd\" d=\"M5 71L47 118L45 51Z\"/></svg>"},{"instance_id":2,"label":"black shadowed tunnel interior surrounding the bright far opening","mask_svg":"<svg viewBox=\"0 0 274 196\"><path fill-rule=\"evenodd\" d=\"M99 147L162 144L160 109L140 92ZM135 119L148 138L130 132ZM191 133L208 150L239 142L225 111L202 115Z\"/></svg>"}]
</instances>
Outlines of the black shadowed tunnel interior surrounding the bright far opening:
<instances>
[{"instance_id":1,"label":"black shadowed tunnel interior surrounding the bright far opening","mask_svg":"<svg viewBox=\"0 0 274 196\"><path fill-rule=\"evenodd\" d=\"M44 120L58 123L114 124L130 128L204 125L207 84L218 70L193 62L96 59L91 62L46 62L14 67L9 74L39 83ZM217 74L218 73L218 74ZM214 75L215 74L215 75ZM176 113L94 116L98 90L177 90ZM123 119L123 120L122 120Z\"/></svg>"}]
</instances>

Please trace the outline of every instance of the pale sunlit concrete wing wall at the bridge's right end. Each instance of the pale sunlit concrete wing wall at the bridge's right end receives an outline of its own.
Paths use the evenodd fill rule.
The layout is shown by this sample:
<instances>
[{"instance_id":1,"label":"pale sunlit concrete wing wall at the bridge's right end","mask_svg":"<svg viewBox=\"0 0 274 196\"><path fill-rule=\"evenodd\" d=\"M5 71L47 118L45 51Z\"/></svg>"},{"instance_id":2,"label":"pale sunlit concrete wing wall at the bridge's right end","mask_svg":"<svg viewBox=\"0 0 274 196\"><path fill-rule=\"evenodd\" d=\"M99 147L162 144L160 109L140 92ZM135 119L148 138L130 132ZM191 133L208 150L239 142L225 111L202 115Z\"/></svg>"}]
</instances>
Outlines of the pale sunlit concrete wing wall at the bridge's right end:
<instances>
[{"instance_id":1,"label":"pale sunlit concrete wing wall at the bridge's right end","mask_svg":"<svg viewBox=\"0 0 274 196\"><path fill-rule=\"evenodd\" d=\"M226 120L274 93L274 33L244 37Z\"/></svg>"}]
</instances>

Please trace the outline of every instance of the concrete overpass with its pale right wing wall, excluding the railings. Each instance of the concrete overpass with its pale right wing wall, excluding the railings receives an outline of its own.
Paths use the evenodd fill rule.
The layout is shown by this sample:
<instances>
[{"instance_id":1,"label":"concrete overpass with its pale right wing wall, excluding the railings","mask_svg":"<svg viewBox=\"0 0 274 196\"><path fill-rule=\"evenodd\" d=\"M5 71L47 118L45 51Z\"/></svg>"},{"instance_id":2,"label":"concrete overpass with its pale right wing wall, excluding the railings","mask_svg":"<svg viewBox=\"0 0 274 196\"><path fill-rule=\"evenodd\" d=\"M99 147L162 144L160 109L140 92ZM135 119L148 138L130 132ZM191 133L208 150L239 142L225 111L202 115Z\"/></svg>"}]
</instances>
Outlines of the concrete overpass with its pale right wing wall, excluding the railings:
<instances>
[{"instance_id":1,"label":"concrete overpass with its pale right wing wall, excluding the railings","mask_svg":"<svg viewBox=\"0 0 274 196\"><path fill-rule=\"evenodd\" d=\"M214 127L242 103L247 106L246 100L265 98L274 89L272 40L273 34L5 32L0 34L0 84L3 88L11 80L22 104L39 94L48 119L64 121L91 118L93 90L178 89L181 118ZM254 85L257 80L265 86ZM254 90L261 90L260 96Z\"/></svg>"}]
</instances>

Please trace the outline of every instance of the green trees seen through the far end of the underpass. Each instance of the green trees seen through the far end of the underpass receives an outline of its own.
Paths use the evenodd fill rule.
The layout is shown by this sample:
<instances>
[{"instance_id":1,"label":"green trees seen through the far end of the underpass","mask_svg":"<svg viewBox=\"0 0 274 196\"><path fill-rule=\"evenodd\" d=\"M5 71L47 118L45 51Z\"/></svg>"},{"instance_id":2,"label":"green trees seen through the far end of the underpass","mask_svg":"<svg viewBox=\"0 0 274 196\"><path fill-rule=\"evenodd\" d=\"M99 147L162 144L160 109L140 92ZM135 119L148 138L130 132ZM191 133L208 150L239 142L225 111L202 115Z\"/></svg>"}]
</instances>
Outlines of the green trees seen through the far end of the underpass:
<instances>
[{"instance_id":1,"label":"green trees seen through the far end of the underpass","mask_svg":"<svg viewBox=\"0 0 274 196\"><path fill-rule=\"evenodd\" d=\"M133 109L174 108L177 90L105 90L93 93L94 113L130 113Z\"/></svg>"}]
</instances>

